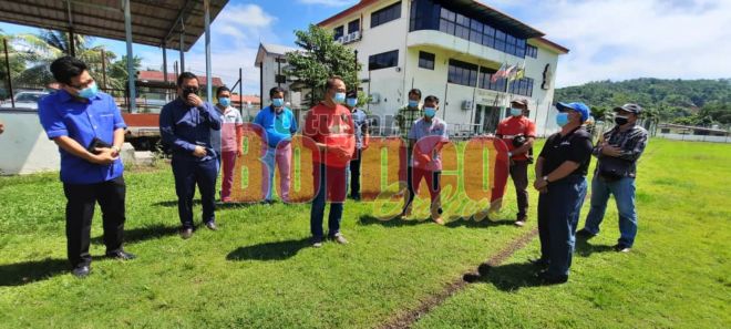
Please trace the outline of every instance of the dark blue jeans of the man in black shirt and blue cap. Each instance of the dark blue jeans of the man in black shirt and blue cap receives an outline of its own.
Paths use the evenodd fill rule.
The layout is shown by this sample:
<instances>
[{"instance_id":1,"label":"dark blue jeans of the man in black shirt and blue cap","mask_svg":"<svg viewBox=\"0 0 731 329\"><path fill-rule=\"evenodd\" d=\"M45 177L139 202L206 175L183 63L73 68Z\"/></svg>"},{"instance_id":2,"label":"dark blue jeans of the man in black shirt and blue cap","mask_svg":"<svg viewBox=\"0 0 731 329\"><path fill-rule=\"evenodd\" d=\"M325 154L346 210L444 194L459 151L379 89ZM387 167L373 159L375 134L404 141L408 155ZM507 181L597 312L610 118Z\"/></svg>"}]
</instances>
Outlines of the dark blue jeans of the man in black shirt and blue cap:
<instances>
[{"instance_id":1,"label":"dark blue jeans of the man in black shirt and blue cap","mask_svg":"<svg viewBox=\"0 0 731 329\"><path fill-rule=\"evenodd\" d=\"M552 277L568 276L586 188L586 178L568 176L550 183L548 192L538 196L540 258L549 263Z\"/></svg>"}]
</instances>

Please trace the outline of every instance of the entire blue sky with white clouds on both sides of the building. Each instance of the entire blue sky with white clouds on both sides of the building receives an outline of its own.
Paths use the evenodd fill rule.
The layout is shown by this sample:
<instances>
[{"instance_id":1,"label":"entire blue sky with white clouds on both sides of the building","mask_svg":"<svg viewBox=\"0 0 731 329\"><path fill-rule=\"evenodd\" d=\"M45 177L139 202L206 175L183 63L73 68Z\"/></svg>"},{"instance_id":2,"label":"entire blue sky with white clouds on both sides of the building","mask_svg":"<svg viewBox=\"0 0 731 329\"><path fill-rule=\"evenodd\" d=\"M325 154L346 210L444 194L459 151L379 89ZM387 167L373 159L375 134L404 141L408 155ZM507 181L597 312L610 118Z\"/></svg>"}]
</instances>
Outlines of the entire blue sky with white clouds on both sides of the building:
<instances>
[{"instance_id":1,"label":"entire blue sky with white clouds on both sides of the building","mask_svg":"<svg viewBox=\"0 0 731 329\"><path fill-rule=\"evenodd\" d=\"M233 85L244 70L244 93L257 94L259 42L294 47L307 29L357 0L231 0L212 23L214 76ZM482 0L570 52L559 58L556 86L634 78L731 78L731 0ZM35 28L0 23L6 33ZM122 55L125 44L96 38ZM159 48L134 45L143 69L162 69ZM168 68L179 58L168 51ZM186 53L186 69L205 72L204 38Z\"/></svg>"}]
</instances>

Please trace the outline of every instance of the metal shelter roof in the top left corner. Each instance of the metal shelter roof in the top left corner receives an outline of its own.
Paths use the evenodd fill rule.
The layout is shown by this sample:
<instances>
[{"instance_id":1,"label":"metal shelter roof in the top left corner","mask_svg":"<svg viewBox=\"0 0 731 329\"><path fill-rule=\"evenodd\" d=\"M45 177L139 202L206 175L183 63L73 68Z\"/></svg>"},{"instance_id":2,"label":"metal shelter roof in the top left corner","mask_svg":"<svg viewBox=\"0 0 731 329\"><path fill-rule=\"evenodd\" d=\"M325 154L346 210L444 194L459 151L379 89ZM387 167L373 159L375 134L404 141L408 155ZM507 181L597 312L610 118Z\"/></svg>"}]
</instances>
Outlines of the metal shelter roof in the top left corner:
<instances>
[{"instance_id":1,"label":"metal shelter roof in the top left corner","mask_svg":"<svg viewBox=\"0 0 731 329\"><path fill-rule=\"evenodd\" d=\"M130 0L132 41L184 51L204 34L204 0ZM228 0L210 0L210 21ZM0 0L0 21L125 40L124 0ZM182 22L182 24L181 24Z\"/></svg>"}]
</instances>

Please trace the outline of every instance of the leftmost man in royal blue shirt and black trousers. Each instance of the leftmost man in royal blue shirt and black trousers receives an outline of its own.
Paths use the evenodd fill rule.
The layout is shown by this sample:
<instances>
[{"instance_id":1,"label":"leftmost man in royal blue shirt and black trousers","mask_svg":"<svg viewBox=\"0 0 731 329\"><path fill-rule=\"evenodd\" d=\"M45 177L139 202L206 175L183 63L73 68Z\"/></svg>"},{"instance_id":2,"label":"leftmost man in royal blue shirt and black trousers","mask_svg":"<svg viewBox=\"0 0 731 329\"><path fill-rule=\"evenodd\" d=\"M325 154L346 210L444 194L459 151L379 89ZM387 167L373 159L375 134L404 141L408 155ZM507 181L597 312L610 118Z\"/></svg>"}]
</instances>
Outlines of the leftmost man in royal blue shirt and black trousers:
<instances>
[{"instance_id":1,"label":"leftmost man in royal blue shirt and black trousers","mask_svg":"<svg viewBox=\"0 0 731 329\"><path fill-rule=\"evenodd\" d=\"M127 260L124 251L124 143L122 120L112 96L99 92L86 64L72 56L51 63L61 90L39 101L38 114L50 140L61 153L61 182L66 197L66 251L73 275L91 271L89 254L94 206L102 208L106 256Z\"/></svg>"}]
</instances>

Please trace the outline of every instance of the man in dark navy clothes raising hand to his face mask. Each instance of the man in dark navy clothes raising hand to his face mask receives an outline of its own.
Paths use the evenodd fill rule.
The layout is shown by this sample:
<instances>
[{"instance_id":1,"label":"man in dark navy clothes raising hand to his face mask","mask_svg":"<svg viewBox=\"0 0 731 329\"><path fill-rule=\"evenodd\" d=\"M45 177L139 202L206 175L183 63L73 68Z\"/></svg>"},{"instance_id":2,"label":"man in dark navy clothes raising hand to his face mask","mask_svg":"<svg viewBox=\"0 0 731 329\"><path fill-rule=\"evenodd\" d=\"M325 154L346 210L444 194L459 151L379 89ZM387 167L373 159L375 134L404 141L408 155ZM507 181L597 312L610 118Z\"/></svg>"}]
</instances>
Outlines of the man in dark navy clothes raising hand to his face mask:
<instances>
[{"instance_id":1,"label":"man in dark navy clothes raising hand to his face mask","mask_svg":"<svg viewBox=\"0 0 731 329\"><path fill-rule=\"evenodd\" d=\"M198 78L183 72L177 78L175 101L159 113L159 134L173 152L173 175L177 194L177 212L183 227L181 237L193 235L193 196L195 186L200 191L203 223L210 230L216 226L216 177L218 152L212 144L210 131L220 130L220 116L213 104L198 96Z\"/></svg>"}]
</instances>

